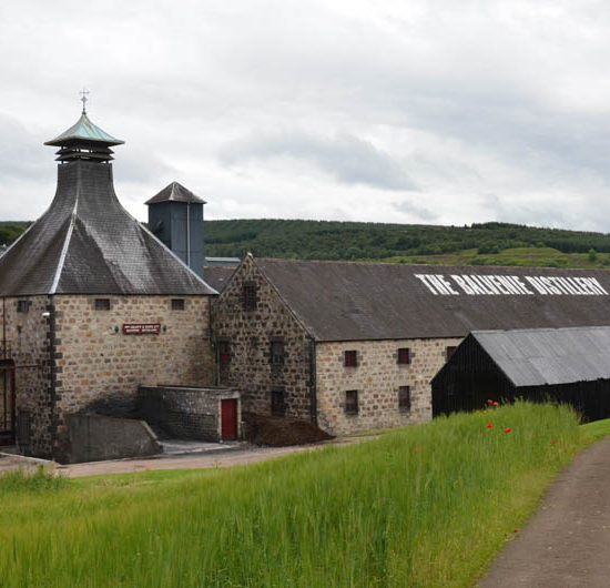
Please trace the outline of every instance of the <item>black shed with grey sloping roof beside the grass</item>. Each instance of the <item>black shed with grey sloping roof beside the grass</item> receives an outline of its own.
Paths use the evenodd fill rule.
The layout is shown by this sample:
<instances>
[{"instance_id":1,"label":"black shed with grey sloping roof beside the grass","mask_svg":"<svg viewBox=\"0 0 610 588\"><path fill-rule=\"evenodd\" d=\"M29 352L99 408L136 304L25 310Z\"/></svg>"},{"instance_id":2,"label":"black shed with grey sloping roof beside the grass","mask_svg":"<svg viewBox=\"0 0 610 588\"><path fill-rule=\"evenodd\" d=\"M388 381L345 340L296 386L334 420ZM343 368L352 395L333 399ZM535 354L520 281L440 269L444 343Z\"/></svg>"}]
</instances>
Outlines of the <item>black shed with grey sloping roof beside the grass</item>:
<instances>
[{"instance_id":1,"label":"black shed with grey sloping roof beside the grass","mask_svg":"<svg viewBox=\"0 0 610 588\"><path fill-rule=\"evenodd\" d=\"M610 326L475 331L433 379L435 416L518 397L608 418Z\"/></svg>"}]
</instances>

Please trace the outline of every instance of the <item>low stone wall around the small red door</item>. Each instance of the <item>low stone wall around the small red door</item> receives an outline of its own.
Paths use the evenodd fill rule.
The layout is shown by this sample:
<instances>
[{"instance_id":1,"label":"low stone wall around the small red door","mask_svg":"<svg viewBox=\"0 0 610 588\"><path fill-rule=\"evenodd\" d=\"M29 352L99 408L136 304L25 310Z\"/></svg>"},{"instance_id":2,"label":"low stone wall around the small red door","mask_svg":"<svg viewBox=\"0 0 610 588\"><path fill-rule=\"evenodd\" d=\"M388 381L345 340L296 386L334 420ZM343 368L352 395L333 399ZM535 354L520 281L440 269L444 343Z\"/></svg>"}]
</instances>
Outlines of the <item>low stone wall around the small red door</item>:
<instances>
[{"instance_id":1,"label":"low stone wall around the small red door","mask_svg":"<svg viewBox=\"0 0 610 588\"><path fill-rule=\"evenodd\" d=\"M237 399L237 436L241 438L240 393L232 388L141 386L138 412L160 434L182 439L221 440L221 401Z\"/></svg>"}]
</instances>

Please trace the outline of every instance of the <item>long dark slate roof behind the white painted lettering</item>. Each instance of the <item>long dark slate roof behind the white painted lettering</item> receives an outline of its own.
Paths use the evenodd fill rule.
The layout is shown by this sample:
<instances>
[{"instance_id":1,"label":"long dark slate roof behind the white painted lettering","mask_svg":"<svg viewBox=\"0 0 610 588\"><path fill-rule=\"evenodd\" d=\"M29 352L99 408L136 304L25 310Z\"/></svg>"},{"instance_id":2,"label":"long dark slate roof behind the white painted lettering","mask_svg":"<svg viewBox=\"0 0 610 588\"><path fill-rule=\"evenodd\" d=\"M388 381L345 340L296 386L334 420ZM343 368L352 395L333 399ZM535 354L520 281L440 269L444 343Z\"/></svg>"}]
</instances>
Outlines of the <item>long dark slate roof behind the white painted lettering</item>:
<instances>
[{"instance_id":1,"label":"long dark slate roof behind the white painted lettering","mask_svg":"<svg viewBox=\"0 0 610 588\"><path fill-rule=\"evenodd\" d=\"M610 325L608 295L435 295L417 274L590 276L602 270L443 266L256 258L318 341L464 337L470 331Z\"/></svg>"}]
</instances>

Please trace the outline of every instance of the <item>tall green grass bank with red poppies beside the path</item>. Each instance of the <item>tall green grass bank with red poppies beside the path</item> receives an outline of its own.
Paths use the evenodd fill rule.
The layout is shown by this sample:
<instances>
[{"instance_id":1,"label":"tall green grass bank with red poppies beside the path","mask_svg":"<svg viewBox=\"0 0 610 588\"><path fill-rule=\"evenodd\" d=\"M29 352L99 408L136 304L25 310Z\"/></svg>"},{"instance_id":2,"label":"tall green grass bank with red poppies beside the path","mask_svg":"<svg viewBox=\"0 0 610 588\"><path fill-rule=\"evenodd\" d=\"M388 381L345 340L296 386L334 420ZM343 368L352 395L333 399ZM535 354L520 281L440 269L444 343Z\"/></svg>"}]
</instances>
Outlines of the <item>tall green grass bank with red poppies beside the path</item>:
<instances>
[{"instance_id":1,"label":"tall green grass bank with red poppies beside the path","mask_svg":"<svg viewBox=\"0 0 610 588\"><path fill-rule=\"evenodd\" d=\"M231 470L48 488L13 476L0 480L1 584L469 586L607 432L518 404Z\"/></svg>"}]
</instances>

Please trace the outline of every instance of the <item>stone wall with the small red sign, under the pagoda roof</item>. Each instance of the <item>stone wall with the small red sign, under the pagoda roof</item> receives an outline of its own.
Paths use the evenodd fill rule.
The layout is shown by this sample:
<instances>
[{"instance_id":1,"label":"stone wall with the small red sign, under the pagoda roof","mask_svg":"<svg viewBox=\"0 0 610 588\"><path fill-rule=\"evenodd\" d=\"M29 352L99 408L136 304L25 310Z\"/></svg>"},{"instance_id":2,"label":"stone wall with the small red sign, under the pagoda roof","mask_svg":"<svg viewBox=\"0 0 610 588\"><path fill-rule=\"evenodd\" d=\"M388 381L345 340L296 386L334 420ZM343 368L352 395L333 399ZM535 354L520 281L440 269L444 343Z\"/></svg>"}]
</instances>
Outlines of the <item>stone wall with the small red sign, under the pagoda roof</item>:
<instances>
[{"instance_id":1,"label":"stone wall with the small red sign, under the pagoda roof","mask_svg":"<svg viewBox=\"0 0 610 588\"><path fill-rule=\"evenodd\" d=\"M95 298L110 311L95 311ZM173 311L172 298L184 310ZM209 296L55 295L58 447L67 414L131 416L141 385L205 386L214 378ZM125 335L123 324L159 323L159 335Z\"/></svg>"}]
</instances>

